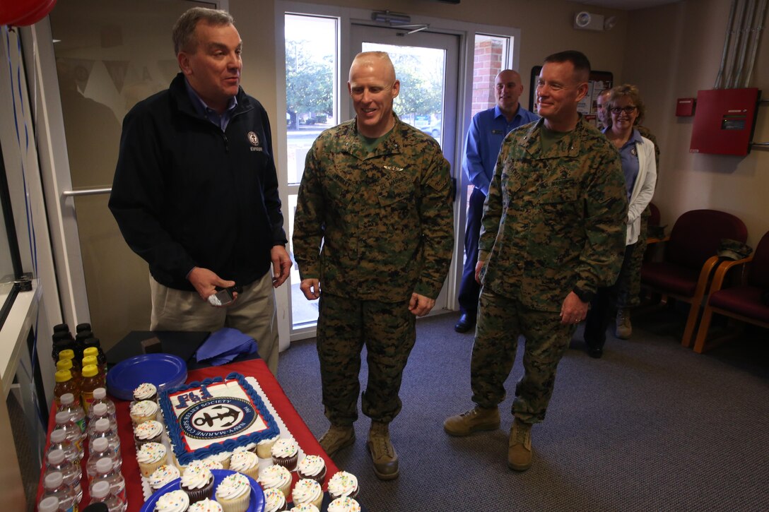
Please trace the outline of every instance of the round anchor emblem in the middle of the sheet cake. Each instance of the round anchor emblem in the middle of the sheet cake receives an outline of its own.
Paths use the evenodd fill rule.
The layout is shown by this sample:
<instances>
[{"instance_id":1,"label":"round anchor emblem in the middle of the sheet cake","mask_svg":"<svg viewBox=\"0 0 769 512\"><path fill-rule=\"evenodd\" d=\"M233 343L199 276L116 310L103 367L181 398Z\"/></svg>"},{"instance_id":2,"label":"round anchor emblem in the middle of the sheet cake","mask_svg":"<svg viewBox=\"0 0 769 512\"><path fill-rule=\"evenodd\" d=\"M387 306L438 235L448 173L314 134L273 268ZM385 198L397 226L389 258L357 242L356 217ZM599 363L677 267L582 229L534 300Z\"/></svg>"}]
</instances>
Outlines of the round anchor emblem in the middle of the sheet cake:
<instances>
[{"instance_id":1,"label":"round anchor emblem in the middle of the sheet cake","mask_svg":"<svg viewBox=\"0 0 769 512\"><path fill-rule=\"evenodd\" d=\"M179 415L179 426L187 437L212 440L247 431L257 419L251 402L236 397L217 397L200 401L185 410Z\"/></svg>"}]
</instances>

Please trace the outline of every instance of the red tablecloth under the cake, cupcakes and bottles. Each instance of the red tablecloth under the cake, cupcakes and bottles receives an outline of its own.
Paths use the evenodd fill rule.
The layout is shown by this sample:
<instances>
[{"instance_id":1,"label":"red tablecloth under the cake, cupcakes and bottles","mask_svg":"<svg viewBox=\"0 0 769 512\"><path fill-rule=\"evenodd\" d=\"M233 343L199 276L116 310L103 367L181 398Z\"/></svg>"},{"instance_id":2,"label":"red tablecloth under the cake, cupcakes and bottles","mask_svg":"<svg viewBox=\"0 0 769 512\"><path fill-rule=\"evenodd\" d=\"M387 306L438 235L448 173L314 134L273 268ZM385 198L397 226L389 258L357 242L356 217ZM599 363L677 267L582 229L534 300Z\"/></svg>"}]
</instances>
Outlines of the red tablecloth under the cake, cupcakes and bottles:
<instances>
[{"instance_id":1,"label":"red tablecloth under the cake, cupcakes and bottles","mask_svg":"<svg viewBox=\"0 0 769 512\"><path fill-rule=\"evenodd\" d=\"M305 451L305 454L320 455L326 462L326 482L324 482L323 489L326 490L328 485L328 479L331 478L338 468L331 457L325 454L325 451L321 448L318 441L315 440L315 436L312 435L310 429L308 429L305 422L302 421L299 414L291 405L291 401L288 400L283 389L281 388L275 376L268 370L267 364L261 359L253 359L251 361L241 361L239 363L225 364L223 366L212 366L208 368L201 368L199 370L192 370L187 375L187 382L201 381L211 377L226 377L227 374L237 371L239 374L243 374L246 377L255 377L258 381L261 389L265 391L265 394L270 399L270 402L275 411L278 412L278 416L281 417L283 423L291 432L291 435L295 437L299 446ZM113 400L114 397L112 398ZM125 477L125 492L128 497L128 512L138 511L141 509L141 505L144 504L144 493L141 490L141 474L139 473L138 462L136 461L136 448L134 445L133 427L131 427L131 417L128 414L127 401L115 400L115 408L118 416L118 434L121 440L121 452L123 457L122 474ZM55 407L55 405L54 405ZM50 421L48 421L48 437L50 438L51 431L55 426L55 409L52 410ZM47 451L46 444L46 451ZM81 501L81 507L85 507L88 504L90 497L88 496L88 477L85 475L85 461L88 460L88 450L86 450L85 458L83 459L83 500ZM44 464L45 467L45 464ZM38 496L37 500L40 500L42 495L42 474L40 472L40 482L38 484ZM293 477L296 480L296 473L293 473ZM37 510L37 507L35 507Z\"/></svg>"}]
</instances>

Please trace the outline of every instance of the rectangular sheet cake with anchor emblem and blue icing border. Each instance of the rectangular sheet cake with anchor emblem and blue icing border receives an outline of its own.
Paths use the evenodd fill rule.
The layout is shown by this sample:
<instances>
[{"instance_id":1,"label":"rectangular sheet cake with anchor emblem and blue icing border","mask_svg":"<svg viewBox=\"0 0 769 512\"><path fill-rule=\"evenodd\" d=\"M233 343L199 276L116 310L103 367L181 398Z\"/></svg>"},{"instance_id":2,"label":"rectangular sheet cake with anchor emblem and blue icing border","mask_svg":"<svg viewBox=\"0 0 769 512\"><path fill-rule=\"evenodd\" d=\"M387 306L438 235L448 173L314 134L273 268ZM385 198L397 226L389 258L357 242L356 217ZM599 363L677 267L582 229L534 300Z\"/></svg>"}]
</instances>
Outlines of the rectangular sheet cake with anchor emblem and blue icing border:
<instances>
[{"instance_id":1,"label":"rectangular sheet cake with anchor emblem and blue icing border","mask_svg":"<svg viewBox=\"0 0 769 512\"><path fill-rule=\"evenodd\" d=\"M160 406L180 464L280 434L259 394L238 373L161 391Z\"/></svg>"}]
</instances>

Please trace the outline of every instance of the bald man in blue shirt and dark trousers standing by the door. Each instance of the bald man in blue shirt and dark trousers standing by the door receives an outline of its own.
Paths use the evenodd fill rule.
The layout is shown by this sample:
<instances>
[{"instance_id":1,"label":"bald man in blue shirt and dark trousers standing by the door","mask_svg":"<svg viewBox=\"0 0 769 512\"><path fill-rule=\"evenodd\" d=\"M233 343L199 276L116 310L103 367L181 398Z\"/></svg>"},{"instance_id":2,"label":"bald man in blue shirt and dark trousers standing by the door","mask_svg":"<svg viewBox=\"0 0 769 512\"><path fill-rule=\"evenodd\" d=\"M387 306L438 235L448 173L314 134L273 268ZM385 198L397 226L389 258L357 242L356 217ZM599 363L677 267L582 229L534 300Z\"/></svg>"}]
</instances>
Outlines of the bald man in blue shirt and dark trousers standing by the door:
<instances>
[{"instance_id":1,"label":"bald man in blue shirt and dark trousers standing by the door","mask_svg":"<svg viewBox=\"0 0 769 512\"><path fill-rule=\"evenodd\" d=\"M539 116L521 107L518 98L524 91L518 71L504 69L494 80L494 108L480 111L473 116L465 144L462 168L474 185L470 195L468 221L464 228L464 271L459 286L459 309L461 317L454 330L470 331L478 314L478 295L481 285L475 281L475 264L478 261L478 235L481 233L483 204L488 194L488 185L494 175L499 149L505 135L514 128L537 121Z\"/></svg>"}]
</instances>

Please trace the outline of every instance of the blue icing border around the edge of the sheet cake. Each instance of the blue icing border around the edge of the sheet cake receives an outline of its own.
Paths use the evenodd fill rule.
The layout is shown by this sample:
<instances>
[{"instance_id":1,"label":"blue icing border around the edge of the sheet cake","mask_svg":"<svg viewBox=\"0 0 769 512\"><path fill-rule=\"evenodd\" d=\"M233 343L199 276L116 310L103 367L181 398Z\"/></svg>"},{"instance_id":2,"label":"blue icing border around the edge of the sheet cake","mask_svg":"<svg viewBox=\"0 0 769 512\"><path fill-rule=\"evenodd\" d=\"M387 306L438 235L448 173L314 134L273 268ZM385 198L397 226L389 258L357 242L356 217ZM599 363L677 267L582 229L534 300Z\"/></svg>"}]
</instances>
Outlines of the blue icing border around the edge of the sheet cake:
<instances>
[{"instance_id":1,"label":"blue icing border around the edge of the sheet cake","mask_svg":"<svg viewBox=\"0 0 769 512\"><path fill-rule=\"evenodd\" d=\"M181 427L178 424L173 405L171 404L171 399L168 398L168 395L178 393L180 391L188 391L195 387L219 384L224 382L225 379L228 381L238 381L238 384L240 384L243 388L243 391L248 394L248 397L251 398L251 401L259 411L259 414L261 414L262 419L264 419L265 424L267 424L267 429L261 432L252 432L251 434L235 437L235 439L220 441L215 444L211 444L211 446L195 450L195 452L189 452L185 450L184 441L181 437ZM171 450L174 451L179 464L189 464L193 460L205 459L206 457L221 454L225 451L234 451L237 447L245 446L251 443L258 443L259 441L280 435L280 428L278 428L278 424L275 422L275 418L272 417L270 411L268 411L267 407L265 407L265 403L261 400L261 396L259 396L251 384L248 384L242 374L238 374L238 372L235 371L233 371L231 374L228 374L225 378L208 378L203 381L195 381L191 382L190 384L182 384L181 386L174 387L173 389L162 390L160 391L160 407L161 411L163 412L163 417L166 418L165 425L168 429L168 437L171 438Z\"/></svg>"}]
</instances>

